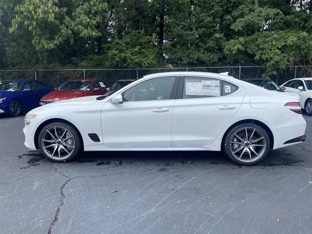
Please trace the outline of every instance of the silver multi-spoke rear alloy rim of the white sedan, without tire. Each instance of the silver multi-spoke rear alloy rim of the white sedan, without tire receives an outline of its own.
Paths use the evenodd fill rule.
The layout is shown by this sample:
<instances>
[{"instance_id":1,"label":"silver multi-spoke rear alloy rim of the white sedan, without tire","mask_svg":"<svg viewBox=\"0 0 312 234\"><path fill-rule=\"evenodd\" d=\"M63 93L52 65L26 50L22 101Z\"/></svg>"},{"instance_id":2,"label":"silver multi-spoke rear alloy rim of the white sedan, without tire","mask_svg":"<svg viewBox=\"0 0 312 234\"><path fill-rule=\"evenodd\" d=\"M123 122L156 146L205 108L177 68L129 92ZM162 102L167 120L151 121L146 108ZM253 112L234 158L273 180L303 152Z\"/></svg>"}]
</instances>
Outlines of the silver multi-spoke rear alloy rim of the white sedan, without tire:
<instances>
[{"instance_id":1,"label":"silver multi-spoke rear alloy rim of the white sedan, without tire","mask_svg":"<svg viewBox=\"0 0 312 234\"><path fill-rule=\"evenodd\" d=\"M254 162L265 154L267 147L263 133L253 127L237 130L231 137L230 150L232 155L242 162Z\"/></svg>"}]
</instances>

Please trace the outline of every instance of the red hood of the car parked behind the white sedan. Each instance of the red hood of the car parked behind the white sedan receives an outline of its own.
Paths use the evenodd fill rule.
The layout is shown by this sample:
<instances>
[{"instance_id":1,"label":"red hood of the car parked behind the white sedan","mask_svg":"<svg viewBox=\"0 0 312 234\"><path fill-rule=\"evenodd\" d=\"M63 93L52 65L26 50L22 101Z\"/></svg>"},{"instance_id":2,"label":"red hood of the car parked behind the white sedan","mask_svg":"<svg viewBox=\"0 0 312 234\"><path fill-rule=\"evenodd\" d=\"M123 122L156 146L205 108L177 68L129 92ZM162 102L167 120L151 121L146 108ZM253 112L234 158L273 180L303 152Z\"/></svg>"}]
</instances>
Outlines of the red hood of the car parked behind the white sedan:
<instances>
[{"instance_id":1,"label":"red hood of the car parked behind the white sedan","mask_svg":"<svg viewBox=\"0 0 312 234\"><path fill-rule=\"evenodd\" d=\"M71 98L80 98L89 96L90 92L88 90L54 90L41 99L45 101L59 101Z\"/></svg>"}]
</instances>

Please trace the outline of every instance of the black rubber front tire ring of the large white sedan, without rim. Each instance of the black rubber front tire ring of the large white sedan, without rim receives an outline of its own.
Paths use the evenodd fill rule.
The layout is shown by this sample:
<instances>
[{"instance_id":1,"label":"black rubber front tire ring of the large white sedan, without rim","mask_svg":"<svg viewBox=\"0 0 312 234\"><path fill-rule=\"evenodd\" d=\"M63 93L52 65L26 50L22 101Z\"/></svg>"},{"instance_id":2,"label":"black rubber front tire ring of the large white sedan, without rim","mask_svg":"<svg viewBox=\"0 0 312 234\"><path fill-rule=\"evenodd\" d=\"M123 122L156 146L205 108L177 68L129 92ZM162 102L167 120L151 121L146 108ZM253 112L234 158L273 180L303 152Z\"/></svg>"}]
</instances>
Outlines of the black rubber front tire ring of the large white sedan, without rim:
<instances>
[{"instance_id":1,"label":"black rubber front tire ring of the large white sedan, without rim","mask_svg":"<svg viewBox=\"0 0 312 234\"><path fill-rule=\"evenodd\" d=\"M42 149L41 137L42 137L43 133L45 132L45 130L47 130L48 128L53 127L53 126L61 126L61 127L67 128L73 134L73 136L75 138L75 149L74 149L74 152L73 152L73 154L70 157L68 157L66 159L51 158ZM51 160L53 162L68 162L68 161L74 159L75 157L77 157L79 155L79 153L81 152L82 144L81 144L80 136L79 136L77 130L74 127L72 127L71 125L69 125L67 123L63 123L63 122L53 122L53 123L47 124L46 126L44 126L40 130L39 136L38 136L38 146L39 146L39 150L40 150L41 154L43 156L45 156L46 158L48 158L49 160Z\"/></svg>"}]
</instances>

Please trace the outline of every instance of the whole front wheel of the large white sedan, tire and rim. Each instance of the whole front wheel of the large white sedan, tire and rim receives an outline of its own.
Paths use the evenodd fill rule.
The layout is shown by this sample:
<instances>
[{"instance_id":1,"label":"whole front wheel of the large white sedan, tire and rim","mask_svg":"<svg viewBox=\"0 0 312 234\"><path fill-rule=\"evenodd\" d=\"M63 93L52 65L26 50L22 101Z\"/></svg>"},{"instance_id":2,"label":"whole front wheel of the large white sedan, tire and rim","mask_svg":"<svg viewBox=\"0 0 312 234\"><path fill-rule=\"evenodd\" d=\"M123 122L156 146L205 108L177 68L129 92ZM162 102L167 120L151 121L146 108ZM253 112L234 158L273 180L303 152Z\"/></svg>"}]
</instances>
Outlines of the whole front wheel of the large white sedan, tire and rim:
<instances>
[{"instance_id":1,"label":"whole front wheel of the large white sedan, tire and rim","mask_svg":"<svg viewBox=\"0 0 312 234\"><path fill-rule=\"evenodd\" d=\"M54 122L44 126L38 137L41 153L55 162L66 162L79 155L81 139L69 124Z\"/></svg>"}]
</instances>

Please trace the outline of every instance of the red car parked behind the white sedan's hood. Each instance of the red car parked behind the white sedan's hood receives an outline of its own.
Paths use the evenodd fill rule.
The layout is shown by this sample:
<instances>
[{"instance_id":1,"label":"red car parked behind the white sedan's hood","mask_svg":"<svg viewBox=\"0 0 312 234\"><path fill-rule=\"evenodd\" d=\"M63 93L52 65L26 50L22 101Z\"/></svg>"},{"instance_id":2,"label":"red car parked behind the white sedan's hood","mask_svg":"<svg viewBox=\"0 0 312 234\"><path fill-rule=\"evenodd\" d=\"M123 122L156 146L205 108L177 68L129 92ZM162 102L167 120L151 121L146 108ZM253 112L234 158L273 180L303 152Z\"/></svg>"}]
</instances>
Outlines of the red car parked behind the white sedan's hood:
<instances>
[{"instance_id":1,"label":"red car parked behind the white sedan's hood","mask_svg":"<svg viewBox=\"0 0 312 234\"><path fill-rule=\"evenodd\" d=\"M55 101L86 96L103 95L107 92L103 81L96 79L70 79L62 83L54 91L44 95L39 104L45 105Z\"/></svg>"}]
</instances>

